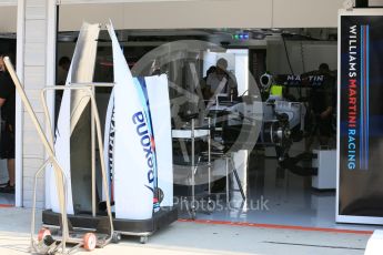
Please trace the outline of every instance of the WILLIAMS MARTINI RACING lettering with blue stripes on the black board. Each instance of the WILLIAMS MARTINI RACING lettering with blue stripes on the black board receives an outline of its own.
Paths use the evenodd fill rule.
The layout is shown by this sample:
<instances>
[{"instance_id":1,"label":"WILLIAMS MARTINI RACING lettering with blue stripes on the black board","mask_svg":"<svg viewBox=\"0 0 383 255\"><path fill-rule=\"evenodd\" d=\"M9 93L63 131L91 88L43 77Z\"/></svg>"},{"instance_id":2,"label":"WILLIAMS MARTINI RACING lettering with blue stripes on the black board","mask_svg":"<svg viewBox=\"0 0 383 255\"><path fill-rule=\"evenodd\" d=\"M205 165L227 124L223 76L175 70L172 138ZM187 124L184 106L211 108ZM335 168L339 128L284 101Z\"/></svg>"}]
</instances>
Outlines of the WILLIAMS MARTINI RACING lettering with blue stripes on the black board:
<instances>
[{"instance_id":1,"label":"WILLIAMS MARTINI RACING lettering with blue stripes on the black board","mask_svg":"<svg viewBox=\"0 0 383 255\"><path fill-rule=\"evenodd\" d=\"M347 169L369 169L369 26L350 26L347 34Z\"/></svg>"}]
</instances>

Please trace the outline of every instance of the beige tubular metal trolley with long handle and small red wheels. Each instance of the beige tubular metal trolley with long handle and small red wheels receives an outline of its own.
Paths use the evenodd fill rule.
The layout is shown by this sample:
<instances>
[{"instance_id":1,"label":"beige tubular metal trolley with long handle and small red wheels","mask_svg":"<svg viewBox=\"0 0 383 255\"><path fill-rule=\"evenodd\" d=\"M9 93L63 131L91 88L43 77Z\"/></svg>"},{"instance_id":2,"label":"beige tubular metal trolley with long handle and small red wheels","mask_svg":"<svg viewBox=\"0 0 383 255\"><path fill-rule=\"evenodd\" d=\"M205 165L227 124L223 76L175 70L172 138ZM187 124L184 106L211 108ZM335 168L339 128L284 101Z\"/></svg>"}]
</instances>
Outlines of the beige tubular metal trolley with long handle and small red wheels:
<instances>
[{"instance_id":1,"label":"beige tubular metal trolley with long handle and small red wheels","mask_svg":"<svg viewBox=\"0 0 383 255\"><path fill-rule=\"evenodd\" d=\"M108 211L108 223L105 224L107 232L104 233L98 233L95 230L89 230L89 228L75 228L72 227L70 224L70 221L68 220L67 215L67 177L64 176L64 172L60 164L58 163L56 155L54 155L54 149L53 149L53 135L51 132L51 125L49 118L47 121L49 122L48 129L50 133L50 140L47 137L44 132L42 131L42 128L40 125L40 122L38 121L36 113L33 112L33 109L26 95L26 92L21 85L21 82L19 78L16 74L14 68L8 57L4 58L4 63L7 67L7 70L9 71L11 79L13 80L13 83L16 85L16 89L21 98L21 101L23 102L27 112L32 119L32 122L37 129L37 132L39 134L39 137L41 142L43 143L43 146L48 153L48 160L42 164L42 166L38 170L38 172L34 175L34 191L33 191L33 208L32 208L32 220L31 220L31 236L30 236L30 252L31 253L39 253L39 254L70 254L77 251L79 247L83 246L88 251L92 251L95 247L103 247L107 244L109 244L114 235L113 231L113 222L112 222L112 214L111 214L111 207L110 207L110 197L107 195L107 211ZM67 89L67 88L61 88ZM101 125L100 125L100 119L95 105L95 100L92 94L92 91L90 88L84 86L71 86L68 88L70 90L85 90L89 93L90 101L91 101L91 108L93 109L94 114L94 122L97 125L97 136L99 144L102 144L102 136L101 136ZM42 93L43 94L43 93ZM43 99L43 96L42 96ZM47 104L44 103L44 100L42 100L44 110L48 110ZM47 112L47 111L46 111ZM101 156L101 167L102 167L102 181L103 184L107 186L107 176L104 174L104 162L103 162L103 151L102 147L100 149L100 156ZM36 223L36 192L37 192L37 180L40 176L40 174L46 170L46 167L51 164L52 169L54 171L56 175L56 184L57 184L57 191L58 191L58 198L59 198L59 207L60 207L60 214L59 215L59 224L58 224L58 234L57 236L52 236L52 233L48 228L41 228L39 231L38 239L34 238L34 223ZM74 244L71 248L67 248L67 243Z\"/></svg>"}]
</instances>

